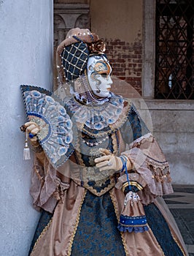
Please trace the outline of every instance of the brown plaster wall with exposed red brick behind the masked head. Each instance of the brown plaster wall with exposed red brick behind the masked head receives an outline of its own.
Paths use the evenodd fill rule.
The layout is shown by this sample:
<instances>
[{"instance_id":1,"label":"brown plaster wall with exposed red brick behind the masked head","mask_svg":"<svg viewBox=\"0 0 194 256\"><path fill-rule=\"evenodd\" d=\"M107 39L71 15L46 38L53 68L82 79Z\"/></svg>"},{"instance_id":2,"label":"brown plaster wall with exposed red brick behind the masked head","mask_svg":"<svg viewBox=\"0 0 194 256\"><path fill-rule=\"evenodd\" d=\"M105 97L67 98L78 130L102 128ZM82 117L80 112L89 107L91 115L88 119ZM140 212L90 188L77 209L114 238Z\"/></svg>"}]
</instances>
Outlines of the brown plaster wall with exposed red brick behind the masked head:
<instances>
[{"instance_id":1,"label":"brown plaster wall with exposed red brick behind the masked head","mask_svg":"<svg viewBox=\"0 0 194 256\"><path fill-rule=\"evenodd\" d=\"M141 93L142 1L91 0L90 17L91 30L106 42L112 75ZM114 91L127 97L128 87Z\"/></svg>"}]
</instances>

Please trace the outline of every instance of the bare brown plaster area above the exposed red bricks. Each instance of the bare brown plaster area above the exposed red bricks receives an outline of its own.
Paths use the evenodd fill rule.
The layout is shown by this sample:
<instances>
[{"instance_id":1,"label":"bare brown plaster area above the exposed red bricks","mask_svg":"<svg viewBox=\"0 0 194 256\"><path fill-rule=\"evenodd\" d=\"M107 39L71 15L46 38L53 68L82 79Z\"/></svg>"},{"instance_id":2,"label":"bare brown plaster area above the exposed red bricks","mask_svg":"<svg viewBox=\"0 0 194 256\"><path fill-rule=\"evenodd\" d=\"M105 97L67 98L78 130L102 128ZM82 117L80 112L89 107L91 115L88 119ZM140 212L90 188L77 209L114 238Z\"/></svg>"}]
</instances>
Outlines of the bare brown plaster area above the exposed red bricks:
<instances>
[{"instance_id":1,"label":"bare brown plaster area above the exposed red bricks","mask_svg":"<svg viewBox=\"0 0 194 256\"><path fill-rule=\"evenodd\" d=\"M134 42L142 31L142 0L90 0L90 15L99 37Z\"/></svg>"}]
</instances>

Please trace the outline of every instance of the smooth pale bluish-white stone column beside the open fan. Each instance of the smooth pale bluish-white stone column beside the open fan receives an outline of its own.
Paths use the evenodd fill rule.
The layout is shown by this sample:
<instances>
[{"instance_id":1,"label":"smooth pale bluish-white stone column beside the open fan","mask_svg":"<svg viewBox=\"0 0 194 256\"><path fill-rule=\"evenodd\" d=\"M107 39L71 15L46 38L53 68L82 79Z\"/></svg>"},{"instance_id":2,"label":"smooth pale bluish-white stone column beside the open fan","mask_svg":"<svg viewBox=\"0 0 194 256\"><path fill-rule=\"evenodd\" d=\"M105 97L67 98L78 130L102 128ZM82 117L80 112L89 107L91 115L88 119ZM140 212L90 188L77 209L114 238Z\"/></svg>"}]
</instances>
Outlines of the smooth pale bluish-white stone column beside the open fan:
<instances>
[{"instance_id":1,"label":"smooth pale bluish-white stone column beside the open fan","mask_svg":"<svg viewBox=\"0 0 194 256\"><path fill-rule=\"evenodd\" d=\"M29 195L32 159L23 160L20 84L52 89L53 1L1 0L0 17L0 254L26 256L39 213Z\"/></svg>"}]
</instances>

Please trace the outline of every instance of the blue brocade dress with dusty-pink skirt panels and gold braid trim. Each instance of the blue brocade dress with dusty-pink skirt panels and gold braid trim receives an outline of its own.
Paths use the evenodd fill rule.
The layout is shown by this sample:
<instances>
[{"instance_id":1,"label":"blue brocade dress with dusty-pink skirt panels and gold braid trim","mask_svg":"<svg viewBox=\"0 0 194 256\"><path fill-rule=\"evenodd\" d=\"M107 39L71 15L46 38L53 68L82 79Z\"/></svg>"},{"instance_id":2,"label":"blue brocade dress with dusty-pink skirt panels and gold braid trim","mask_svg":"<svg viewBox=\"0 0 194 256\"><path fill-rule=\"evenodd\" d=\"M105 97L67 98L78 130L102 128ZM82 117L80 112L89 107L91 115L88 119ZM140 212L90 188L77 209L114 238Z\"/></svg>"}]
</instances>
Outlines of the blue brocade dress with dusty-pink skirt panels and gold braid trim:
<instances>
[{"instance_id":1,"label":"blue brocade dress with dusty-pink skirt panels and gold braid trim","mask_svg":"<svg viewBox=\"0 0 194 256\"><path fill-rule=\"evenodd\" d=\"M66 109L69 116L74 114L69 105L66 105ZM121 232L117 227L121 211L119 207L120 205L123 206L123 202L117 203L119 196L117 197L117 189L115 189L120 173L101 176L94 168L93 161L95 157L98 157L98 154L95 153L98 148L107 148L113 154L120 155L123 151L126 151L126 145L133 143L133 146L135 146L137 141L137 145L139 145L141 138L142 140L147 138L146 135L149 134L149 130L141 121L133 105L124 102L123 114L117 120L115 127L110 125L103 129L90 129L83 125L77 133L77 146L75 146L74 153L70 157L71 163L73 163L70 170L73 170L75 164L81 166L82 169L80 169L79 177L72 175L69 178L69 184L70 187L78 187L78 189L81 188L84 191L82 200L74 200L74 204L79 205L72 214L74 220L71 219L71 214L68 216L65 216L65 214L64 216L59 215L61 212L59 208L68 208L68 202L62 206L63 200L58 200L53 212L46 211L47 208L45 210L45 207L42 207L42 215L36 227L29 255L187 255L179 236L176 235L176 232L173 232L173 227L171 227L168 219L163 216L158 204L155 203L155 197L158 195L153 195L153 192L150 192L152 189L149 190L148 185L145 191L150 192L150 198L152 197L152 199L143 200L143 202L146 202L143 203L143 207L147 227L152 233L152 243L148 238L142 238L141 241L141 236L144 237L148 233L146 230L144 232L139 231L136 236L132 236L131 233L125 231L125 236L129 236L129 238L123 236L124 232ZM151 160L158 161L158 166L164 163L160 159ZM84 170L86 170L86 173ZM72 172L74 173L74 171ZM139 170L136 170L136 172L141 175ZM158 173L152 170L151 165L150 172L152 172L152 176L155 176L155 183L160 183L160 180L157 179ZM42 175L45 176L45 174ZM97 178L92 177L95 175ZM60 186L58 189L60 189ZM64 193L70 198L70 195L68 195L70 193L69 189L66 189L62 194L64 195ZM139 195L141 197L141 194ZM147 198L147 196L143 197ZM56 217L55 214L60 217ZM73 217L74 214L76 214L75 218ZM60 218L61 222L58 224L57 219ZM69 225L65 224L63 218L71 219L74 227L73 231L69 233L66 231L69 229ZM58 227L54 227L55 225L58 225ZM61 230L58 231L58 228L61 228ZM133 232L135 231L133 230ZM55 236L55 233L60 234ZM63 235L65 233L68 234ZM155 244L155 248L152 249L153 244ZM47 249L48 247L50 249Z\"/></svg>"}]
</instances>

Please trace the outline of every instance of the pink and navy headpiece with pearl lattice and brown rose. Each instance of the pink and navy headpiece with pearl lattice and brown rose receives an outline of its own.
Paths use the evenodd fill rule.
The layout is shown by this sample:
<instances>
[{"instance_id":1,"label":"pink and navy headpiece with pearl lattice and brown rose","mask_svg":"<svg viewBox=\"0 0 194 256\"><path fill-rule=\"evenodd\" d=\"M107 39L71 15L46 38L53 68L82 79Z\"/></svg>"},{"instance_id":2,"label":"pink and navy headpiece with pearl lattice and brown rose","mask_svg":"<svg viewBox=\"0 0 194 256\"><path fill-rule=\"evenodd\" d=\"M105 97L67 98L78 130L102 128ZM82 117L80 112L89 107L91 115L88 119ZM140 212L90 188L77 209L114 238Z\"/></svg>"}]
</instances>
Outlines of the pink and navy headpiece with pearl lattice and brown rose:
<instances>
[{"instance_id":1,"label":"pink and navy headpiece with pearl lattice and brown rose","mask_svg":"<svg viewBox=\"0 0 194 256\"><path fill-rule=\"evenodd\" d=\"M105 50L104 42L89 29L71 29L57 49L67 82L83 74L91 54L103 54Z\"/></svg>"}]
</instances>

